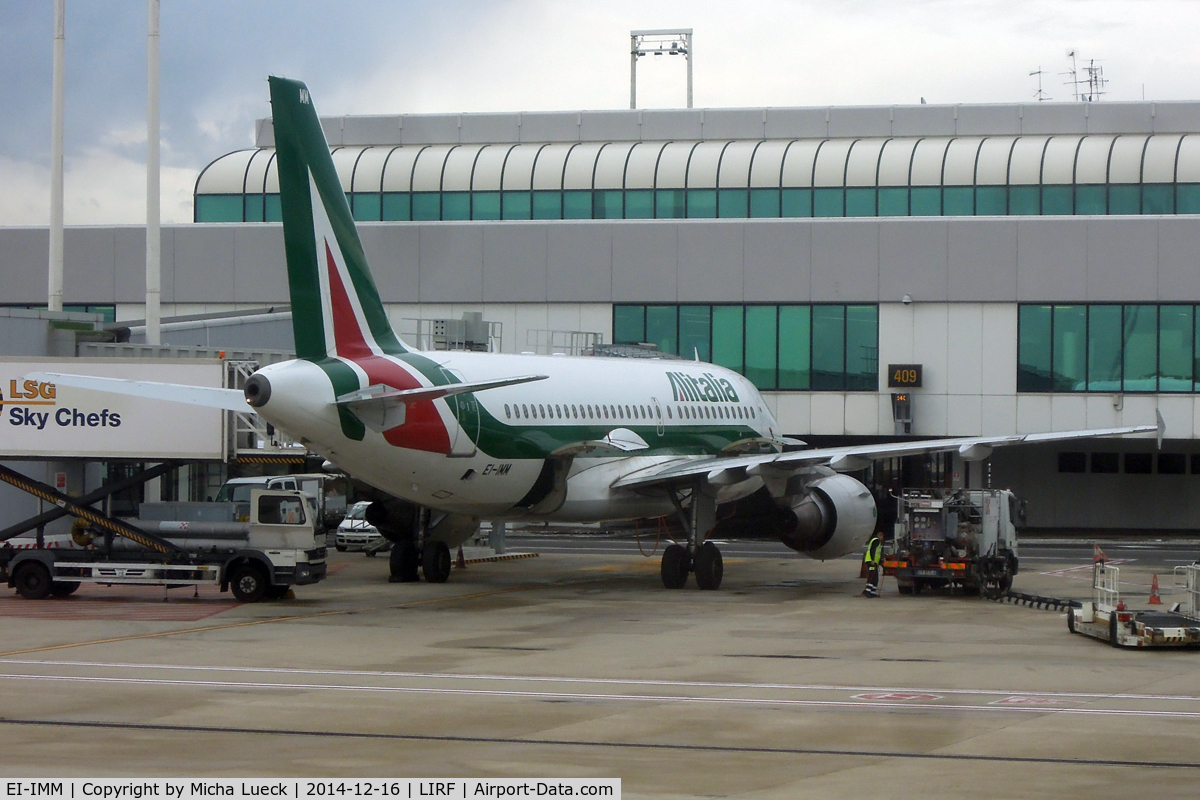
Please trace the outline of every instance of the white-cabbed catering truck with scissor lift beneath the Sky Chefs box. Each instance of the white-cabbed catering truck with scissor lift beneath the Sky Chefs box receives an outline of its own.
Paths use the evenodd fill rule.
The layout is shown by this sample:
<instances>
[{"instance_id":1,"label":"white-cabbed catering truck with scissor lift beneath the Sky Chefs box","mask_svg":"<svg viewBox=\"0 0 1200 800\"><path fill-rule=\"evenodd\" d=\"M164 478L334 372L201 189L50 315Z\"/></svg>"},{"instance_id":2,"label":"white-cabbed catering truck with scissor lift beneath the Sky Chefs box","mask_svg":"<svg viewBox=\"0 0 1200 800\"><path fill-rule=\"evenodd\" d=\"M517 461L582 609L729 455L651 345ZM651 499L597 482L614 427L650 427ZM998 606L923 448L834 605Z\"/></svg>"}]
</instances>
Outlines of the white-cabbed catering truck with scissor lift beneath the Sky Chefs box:
<instances>
[{"instance_id":1,"label":"white-cabbed catering truck with scissor lift beneath the Sky Chefs box","mask_svg":"<svg viewBox=\"0 0 1200 800\"><path fill-rule=\"evenodd\" d=\"M158 519L166 515L156 506L174 509L172 516L179 506L210 510ZM252 489L245 503L143 504L140 511L145 518L97 516L92 522L100 527L77 527L74 548L10 542L0 547L0 577L29 600L64 597L83 583L206 583L241 602L277 600L293 585L325 577L325 535L317 533L312 505L299 492Z\"/></svg>"}]
</instances>

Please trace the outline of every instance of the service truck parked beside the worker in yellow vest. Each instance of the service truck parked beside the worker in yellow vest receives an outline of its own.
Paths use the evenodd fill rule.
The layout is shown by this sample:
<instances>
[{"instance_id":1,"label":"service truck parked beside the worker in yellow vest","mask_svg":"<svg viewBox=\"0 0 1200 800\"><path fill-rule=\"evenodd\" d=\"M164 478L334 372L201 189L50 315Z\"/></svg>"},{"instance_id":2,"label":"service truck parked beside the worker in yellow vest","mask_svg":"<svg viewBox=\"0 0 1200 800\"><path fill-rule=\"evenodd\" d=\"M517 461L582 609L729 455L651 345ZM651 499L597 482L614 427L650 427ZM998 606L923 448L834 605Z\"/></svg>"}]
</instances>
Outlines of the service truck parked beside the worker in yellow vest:
<instances>
[{"instance_id":1,"label":"service truck parked beside the worker in yellow vest","mask_svg":"<svg viewBox=\"0 0 1200 800\"><path fill-rule=\"evenodd\" d=\"M1007 489L904 489L883 575L902 595L950 589L1000 596L1019 567L1025 507Z\"/></svg>"}]
</instances>

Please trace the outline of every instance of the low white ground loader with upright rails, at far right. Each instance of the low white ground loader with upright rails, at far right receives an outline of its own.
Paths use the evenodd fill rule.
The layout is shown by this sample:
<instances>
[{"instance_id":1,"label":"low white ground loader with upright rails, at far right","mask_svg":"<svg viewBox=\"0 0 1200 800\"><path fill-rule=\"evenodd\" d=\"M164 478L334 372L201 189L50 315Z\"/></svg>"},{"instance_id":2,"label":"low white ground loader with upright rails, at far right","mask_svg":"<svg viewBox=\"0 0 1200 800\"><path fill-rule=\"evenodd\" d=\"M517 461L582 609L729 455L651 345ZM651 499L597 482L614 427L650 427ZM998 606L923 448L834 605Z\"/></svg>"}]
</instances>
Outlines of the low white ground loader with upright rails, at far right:
<instances>
[{"instance_id":1,"label":"low white ground loader with upright rails, at far right","mask_svg":"<svg viewBox=\"0 0 1200 800\"><path fill-rule=\"evenodd\" d=\"M1200 645L1200 564L1175 567L1175 590L1183 599L1169 612L1133 610L1121 599L1121 567L1098 560L1092 600L1067 609L1067 630L1115 648Z\"/></svg>"}]
</instances>

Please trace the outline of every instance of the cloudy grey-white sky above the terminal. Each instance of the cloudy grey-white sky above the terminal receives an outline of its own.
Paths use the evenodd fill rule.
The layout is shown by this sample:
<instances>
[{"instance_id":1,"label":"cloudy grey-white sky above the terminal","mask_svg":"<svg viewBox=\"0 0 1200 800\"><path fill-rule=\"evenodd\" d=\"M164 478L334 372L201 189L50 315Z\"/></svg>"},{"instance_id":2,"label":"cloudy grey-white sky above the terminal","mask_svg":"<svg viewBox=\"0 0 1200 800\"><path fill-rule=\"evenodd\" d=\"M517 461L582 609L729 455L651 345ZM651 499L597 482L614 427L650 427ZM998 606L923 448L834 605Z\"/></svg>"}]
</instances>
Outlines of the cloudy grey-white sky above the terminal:
<instances>
[{"instance_id":1,"label":"cloudy grey-white sky above the terminal","mask_svg":"<svg viewBox=\"0 0 1200 800\"><path fill-rule=\"evenodd\" d=\"M162 219L253 146L266 76L318 113L629 107L629 31L691 28L697 108L1200 100L1200 0L161 0ZM49 221L53 0L0 2L0 225ZM145 221L146 4L67 0L65 218ZM683 59L638 65L638 106L685 103Z\"/></svg>"}]
</instances>

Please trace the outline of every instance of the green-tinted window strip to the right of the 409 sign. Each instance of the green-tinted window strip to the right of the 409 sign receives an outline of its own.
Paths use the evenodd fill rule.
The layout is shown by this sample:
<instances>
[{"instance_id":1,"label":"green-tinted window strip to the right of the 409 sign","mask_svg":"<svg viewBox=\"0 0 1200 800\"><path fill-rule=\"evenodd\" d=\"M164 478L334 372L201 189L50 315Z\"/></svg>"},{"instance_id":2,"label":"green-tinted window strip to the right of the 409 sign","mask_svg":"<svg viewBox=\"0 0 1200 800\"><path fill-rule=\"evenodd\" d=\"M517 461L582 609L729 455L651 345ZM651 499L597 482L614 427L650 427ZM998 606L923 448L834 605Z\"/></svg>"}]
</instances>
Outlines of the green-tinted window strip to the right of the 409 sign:
<instances>
[{"instance_id":1,"label":"green-tinted window strip to the right of the 409 sign","mask_svg":"<svg viewBox=\"0 0 1200 800\"><path fill-rule=\"evenodd\" d=\"M1022 305L1019 392L1200 391L1194 305Z\"/></svg>"}]
</instances>

